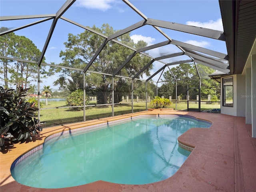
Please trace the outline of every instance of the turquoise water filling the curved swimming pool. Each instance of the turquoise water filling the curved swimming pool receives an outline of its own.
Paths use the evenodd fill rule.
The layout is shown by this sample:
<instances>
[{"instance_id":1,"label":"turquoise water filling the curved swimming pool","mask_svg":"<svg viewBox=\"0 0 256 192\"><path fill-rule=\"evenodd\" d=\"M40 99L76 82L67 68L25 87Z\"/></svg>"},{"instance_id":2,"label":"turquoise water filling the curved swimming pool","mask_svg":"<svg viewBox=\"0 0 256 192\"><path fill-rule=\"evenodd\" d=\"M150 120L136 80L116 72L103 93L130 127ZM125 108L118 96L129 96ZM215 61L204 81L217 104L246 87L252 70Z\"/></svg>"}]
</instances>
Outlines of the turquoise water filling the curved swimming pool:
<instances>
[{"instance_id":1,"label":"turquoise water filling the curved swimming pool","mask_svg":"<svg viewBox=\"0 0 256 192\"><path fill-rule=\"evenodd\" d=\"M56 136L12 166L13 178L37 188L63 188L104 180L148 184L172 176L190 152L177 138L192 127L210 127L194 118L143 118L94 131Z\"/></svg>"}]
</instances>

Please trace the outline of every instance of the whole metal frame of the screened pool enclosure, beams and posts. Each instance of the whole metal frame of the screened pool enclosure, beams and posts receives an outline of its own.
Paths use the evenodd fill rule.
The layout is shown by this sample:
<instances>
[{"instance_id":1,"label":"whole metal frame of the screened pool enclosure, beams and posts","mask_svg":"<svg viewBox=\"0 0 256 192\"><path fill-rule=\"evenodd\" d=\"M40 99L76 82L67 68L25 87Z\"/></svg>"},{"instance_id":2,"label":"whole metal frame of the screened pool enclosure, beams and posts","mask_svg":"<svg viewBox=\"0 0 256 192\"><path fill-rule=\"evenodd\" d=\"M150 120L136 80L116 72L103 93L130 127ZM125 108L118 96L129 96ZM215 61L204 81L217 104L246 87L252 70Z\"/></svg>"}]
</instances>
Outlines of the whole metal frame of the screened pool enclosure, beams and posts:
<instances>
[{"instance_id":1,"label":"whole metal frame of the screened pool enclosure, beams and posts","mask_svg":"<svg viewBox=\"0 0 256 192\"><path fill-rule=\"evenodd\" d=\"M38 97L40 94L40 66L42 65L48 65L48 66L54 66L52 64L44 64L42 63L42 60L44 58L44 54L46 52L46 49L48 48L48 44L52 38L52 34L54 32L54 28L58 22L59 19L62 19L66 22L69 22L71 24L74 24L76 26L79 26L81 28L83 28L84 30L88 30L90 32L93 32L99 36L102 36L103 38L105 38L104 42L102 42L101 46L98 48L98 50L96 51L96 53L94 54L94 56L92 56L92 59L90 60L90 62L88 62L87 66L81 70L78 68L68 68L68 67L64 67L64 66L54 66L54 67L63 67L63 68L67 68L67 69L71 69L71 70L79 70L79 71L83 71L84 73L84 81L85 81L85 75L87 72L92 72L92 73L98 73L98 74L102 74L102 75L108 75L108 76L112 76L112 82L114 81L114 77L121 77L121 78L130 78L132 79L132 95L133 95L133 80L142 80L139 79L138 76L144 71L146 70L150 65L152 65L154 62L160 62L162 64L164 64L164 66L160 67L158 70L156 70L156 72L151 75L149 78L147 78L145 80L146 82L146 99L147 99L147 82L152 80L152 78L154 76L156 76L157 74L159 74L161 72L160 77L162 76L162 73L164 72L165 68L171 65L176 65L176 64L181 64L181 63L199 63L202 64L204 66L208 66L210 68L213 68L215 70L224 72L225 74L229 74L230 70L229 70L229 62L228 62L228 55L227 54L223 54L220 52L216 52L213 50L209 50L206 48L202 48L199 46L194 46L192 44L188 44L188 43L184 43L184 42L180 42L178 40L174 40L171 37L169 37L167 34L165 34L161 29L161 28L166 28L169 30L177 30L180 32L185 32L185 33L189 33L189 34L195 34L195 35L199 35L199 36L204 36L206 38L212 38L212 39L216 39L216 40L220 40L220 41L226 41L226 35L225 32L222 31L218 31L218 30L212 30L212 29L207 29L207 28L201 28L201 27L195 27L195 26L189 26L189 25L184 25L184 24L178 24L178 23L173 23L173 22L168 22L168 21L162 21L162 20L156 20L156 19L151 19L148 18L147 16L145 16L142 12L140 12L140 10L138 10L138 8L136 8L134 5L132 5L128 0L122 0L125 4L127 4L132 10L134 10L134 12L136 12L136 14L138 14L140 17L142 17L143 20L141 20L140 22L136 22L133 25L120 30L118 32L116 32L115 34L112 34L110 36L105 36L103 34L100 34L98 32L95 32L94 30L83 26L81 24L78 24L68 18L63 17L62 15L66 12L66 10L68 10L68 8L70 8L70 6L72 6L72 4L74 4L76 0L67 0L62 7L56 12L56 14L45 14L45 15L31 15L31 16L4 16L4 17L0 17L0 21L4 21L4 20L19 20L19 19L31 19L31 18L43 18L42 20L38 21L38 22L33 22L30 24L27 24L25 26L21 26L19 28L15 28L12 30L8 30L5 32L2 32L0 34L0 36L8 34L10 32L14 32L23 28L27 28L30 26L34 26L36 24L48 21L48 20L52 20L52 26L50 27L50 30L48 32L48 36L46 38L46 42L44 44L44 47L42 49L41 52L41 56L39 58L38 62L32 62L32 61L27 61L27 60L20 60L17 58L8 58L5 56L0 56L0 58L2 59L11 59L11 60L17 60L17 61L24 61L24 62L30 62L30 63L34 63L38 65ZM164 42L160 42L157 44L153 44L144 48L140 48L138 50L129 47L125 44L122 44L121 42L118 42L117 40L115 40L115 38L118 38L119 36L122 36L123 34L126 34L127 32L131 32L133 30L136 30L138 28L141 28L145 25L148 26L152 26L153 29L152 30L157 30L162 36L164 36L164 38L166 38L167 40ZM127 58L126 61L124 61L121 66L114 71L113 74L106 74L106 73L101 73L101 72L93 72L93 71L89 71L88 69L90 68L90 66L92 65L92 63L95 61L95 59L97 58L97 56L100 54L100 52L103 50L103 48L106 46L106 44L109 41L113 41L115 43L118 43L130 50L133 50L134 52ZM147 50L151 50L154 48L159 48L162 46L166 46L168 44L173 44L175 45L179 50L181 50L181 52L170 52L165 56L160 56L157 58L154 58L150 55L144 54L145 51ZM124 68L126 66L126 64L132 60L132 58L134 58L134 56L136 54L142 54L144 56L147 56L149 58L151 58L152 60L148 63L145 64L144 68L142 68L139 72L136 73L135 76L133 77L123 77L123 76L118 76L118 72L120 72L120 70L122 70L122 68ZM205 55L207 54L207 56ZM171 63L166 63L163 60L166 58L176 58L178 56L187 56L188 60L179 60L177 62L171 62ZM196 68L197 69L197 68ZM169 68L170 73L172 74L172 76L174 77L174 79L176 80L176 108L177 108L177 79L174 76L174 74L172 73L172 71ZM198 69L197 69L198 72ZM198 73L199 79L200 79L200 75ZM160 82L160 77L158 79L158 82ZM144 80L143 80L144 81ZM85 83L84 82L84 97L85 97ZM113 83L112 83L113 84ZM114 88L112 87L112 96L114 95ZM133 96L132 96L133 98ZM39 100L39 99L38 99ZM112 98L112 116L114 116L114 99ZM40 101L39 101L40 102ZM147 110L147 105L146 105L146 110ZM133 99L132 99L132 112L133 112ZM84 120L85 120L85 103L84 103Z\"/></svg>"}]
</instances>

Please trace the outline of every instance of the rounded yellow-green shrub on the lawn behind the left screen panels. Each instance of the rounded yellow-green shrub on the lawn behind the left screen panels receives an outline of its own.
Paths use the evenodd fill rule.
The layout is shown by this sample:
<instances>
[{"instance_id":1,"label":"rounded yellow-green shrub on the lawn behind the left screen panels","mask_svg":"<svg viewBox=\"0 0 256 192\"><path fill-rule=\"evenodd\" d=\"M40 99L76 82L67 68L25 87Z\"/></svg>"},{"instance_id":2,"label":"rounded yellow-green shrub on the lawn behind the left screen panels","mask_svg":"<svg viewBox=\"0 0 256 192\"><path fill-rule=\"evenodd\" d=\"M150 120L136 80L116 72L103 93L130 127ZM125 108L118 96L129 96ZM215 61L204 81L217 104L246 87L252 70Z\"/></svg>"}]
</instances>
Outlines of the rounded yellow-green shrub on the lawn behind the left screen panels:
<instances>
[{"instance_id":1,"label":"rounded yellow-green shrub on the lawn behind the left screen panels","mask_svg":"<svg viewBox=\"0 0 256 192\"><path fill-rule=\"evenodd\" d=\"M85 98L85 104L88 105L90 103L89 98ZM68 106L84 106L84 92L81 89L73 91L66 98L66 104ZM76 110L83 110L83 107L77 107Z\"/></svg>"}]
</instances>

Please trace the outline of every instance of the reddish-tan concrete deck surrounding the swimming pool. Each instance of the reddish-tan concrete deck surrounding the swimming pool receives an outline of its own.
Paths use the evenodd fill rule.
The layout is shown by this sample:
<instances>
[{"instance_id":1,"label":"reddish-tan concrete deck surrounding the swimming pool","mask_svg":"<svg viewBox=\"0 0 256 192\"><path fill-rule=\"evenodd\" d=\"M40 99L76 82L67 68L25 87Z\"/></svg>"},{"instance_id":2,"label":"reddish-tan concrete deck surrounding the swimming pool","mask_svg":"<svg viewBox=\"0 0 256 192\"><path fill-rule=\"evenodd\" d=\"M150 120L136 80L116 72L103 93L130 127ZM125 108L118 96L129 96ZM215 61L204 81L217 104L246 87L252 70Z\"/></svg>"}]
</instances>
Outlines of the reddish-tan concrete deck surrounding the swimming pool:
<instances>
[{"instance_id":1,"label":"reddish-tan concrete deck surrounding the swimming pool","mask_svg":"<svg viewBox=\"0 0 256 192\"><path fill-rule=\"evenodd\" d=\"M14 160L43 144L44 139L57 132L81 128L106 121L140 114L183 114L211 121L209 129L191 128L178 141L194 148L181 168L172 177L145 185L114 184L97 181L82 186L61 189L42 189L16 182L10 173ZM0 153L1 192L255 192L256 191L256 138L245 118L224 114L149 110L88 122L45 128L32 142L15 144Z\"/></svg>"}]
</instances>

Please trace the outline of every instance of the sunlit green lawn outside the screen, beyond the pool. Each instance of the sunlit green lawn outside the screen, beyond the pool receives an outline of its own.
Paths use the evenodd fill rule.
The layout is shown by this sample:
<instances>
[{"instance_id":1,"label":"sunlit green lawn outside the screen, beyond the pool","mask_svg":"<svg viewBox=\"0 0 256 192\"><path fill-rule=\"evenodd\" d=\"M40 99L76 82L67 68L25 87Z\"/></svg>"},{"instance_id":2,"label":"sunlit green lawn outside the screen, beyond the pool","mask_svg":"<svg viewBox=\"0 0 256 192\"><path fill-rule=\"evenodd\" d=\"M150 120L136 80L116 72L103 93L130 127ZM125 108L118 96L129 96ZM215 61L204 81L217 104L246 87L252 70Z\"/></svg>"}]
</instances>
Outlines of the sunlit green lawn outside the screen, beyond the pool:
<instances>
[{"instance_id":1,"label":"sunlit green lawn outside the screen, beyond the pool","mask_svg":"<svg viewBox=\"0 0 256 192\"><path fill-rule=\"evenodd\" d=\"M48 106L45 105L45 102L41 102L44 104L43 110L40 110L40 121L46 122L43 124L43 127L56 126L61 124L68 124L74 122L81 122L84 120L84 111L76 111L70 108L56 108L66 106L65 101L58 102L49 102ZM95 104L90 102L90 104ZM46 109L46 108L54 108L54 109ZM153 106L148 103L148 108L153 108ZM175 102L172 103L170 108L175 108ZM178 110L186 110L187 103L180 102L177 104ZM198 104L190 104L190 108L198 108ZM219 104L201 104L201 110L204 109L212 109L212 108L220 108ZM134 102L133 111L139 112L146 110L145 102ZM122 115L132 113L132 104L124 103L119 105L114 105L114 115ZM86 107L86 120L104 118L112 116L112 106L92 106Z\"/></svg>"}]
</instances>

